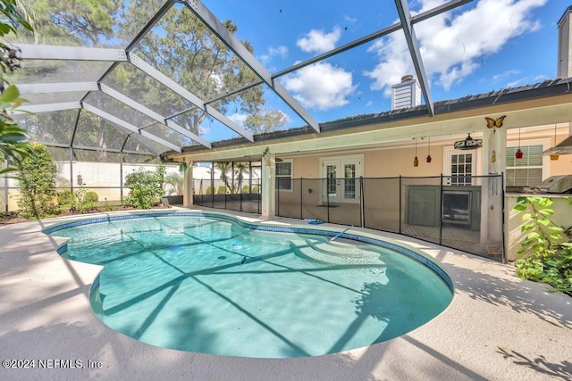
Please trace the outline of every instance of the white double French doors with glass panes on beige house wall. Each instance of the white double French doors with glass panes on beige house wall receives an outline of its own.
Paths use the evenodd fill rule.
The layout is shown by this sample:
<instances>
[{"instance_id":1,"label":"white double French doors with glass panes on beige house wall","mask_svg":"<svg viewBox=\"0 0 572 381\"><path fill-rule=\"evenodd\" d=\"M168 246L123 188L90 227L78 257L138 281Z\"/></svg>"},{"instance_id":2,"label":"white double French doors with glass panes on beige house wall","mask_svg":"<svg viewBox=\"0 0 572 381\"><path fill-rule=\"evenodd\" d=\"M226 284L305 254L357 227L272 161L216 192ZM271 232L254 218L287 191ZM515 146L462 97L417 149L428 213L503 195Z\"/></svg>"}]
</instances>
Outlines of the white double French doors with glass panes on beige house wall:
<instances>
[{"instance_id":1,"label":"white double French doors with glass panes on beige house wall","mask_svg":"<svg viewBox=\"0 0 572 381\"><path fill-rule=\"evenodd\" d=\"M361 159L324 159L322 162L322 202L359 203Z\"/></svg>"}]
</instances>

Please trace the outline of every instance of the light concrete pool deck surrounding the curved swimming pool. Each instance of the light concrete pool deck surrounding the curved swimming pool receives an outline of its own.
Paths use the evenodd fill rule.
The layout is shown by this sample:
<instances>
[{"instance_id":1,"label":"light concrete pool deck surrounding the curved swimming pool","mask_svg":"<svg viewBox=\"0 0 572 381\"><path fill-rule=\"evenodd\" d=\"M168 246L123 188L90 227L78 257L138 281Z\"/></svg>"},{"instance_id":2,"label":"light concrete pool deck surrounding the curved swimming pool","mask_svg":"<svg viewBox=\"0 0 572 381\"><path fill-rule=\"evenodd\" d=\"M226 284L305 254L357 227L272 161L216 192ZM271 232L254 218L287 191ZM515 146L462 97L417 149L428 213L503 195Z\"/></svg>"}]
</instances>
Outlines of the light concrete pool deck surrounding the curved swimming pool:
<instances>
[{"instance_id":1,"label":"light concrete pool deck surrounding the curved swimming pool","mask_svg":"<svg viewBox=\"0 0 572 381\"><path fill-rule=\"evenodd\" d=\"M14 366L35 360L33 369L5 369L3 362L0 379L572 379L572 298L519 279L509 265L361 228L355 230L440 261L455 285L450 306L407 335L312 358L223 357L142 344L91 310L89 288L100 268L64 260L55 253L63 240L41 233L69 219L0 227L0 360L22 360Z\"/></svg>"}]
</instances>

